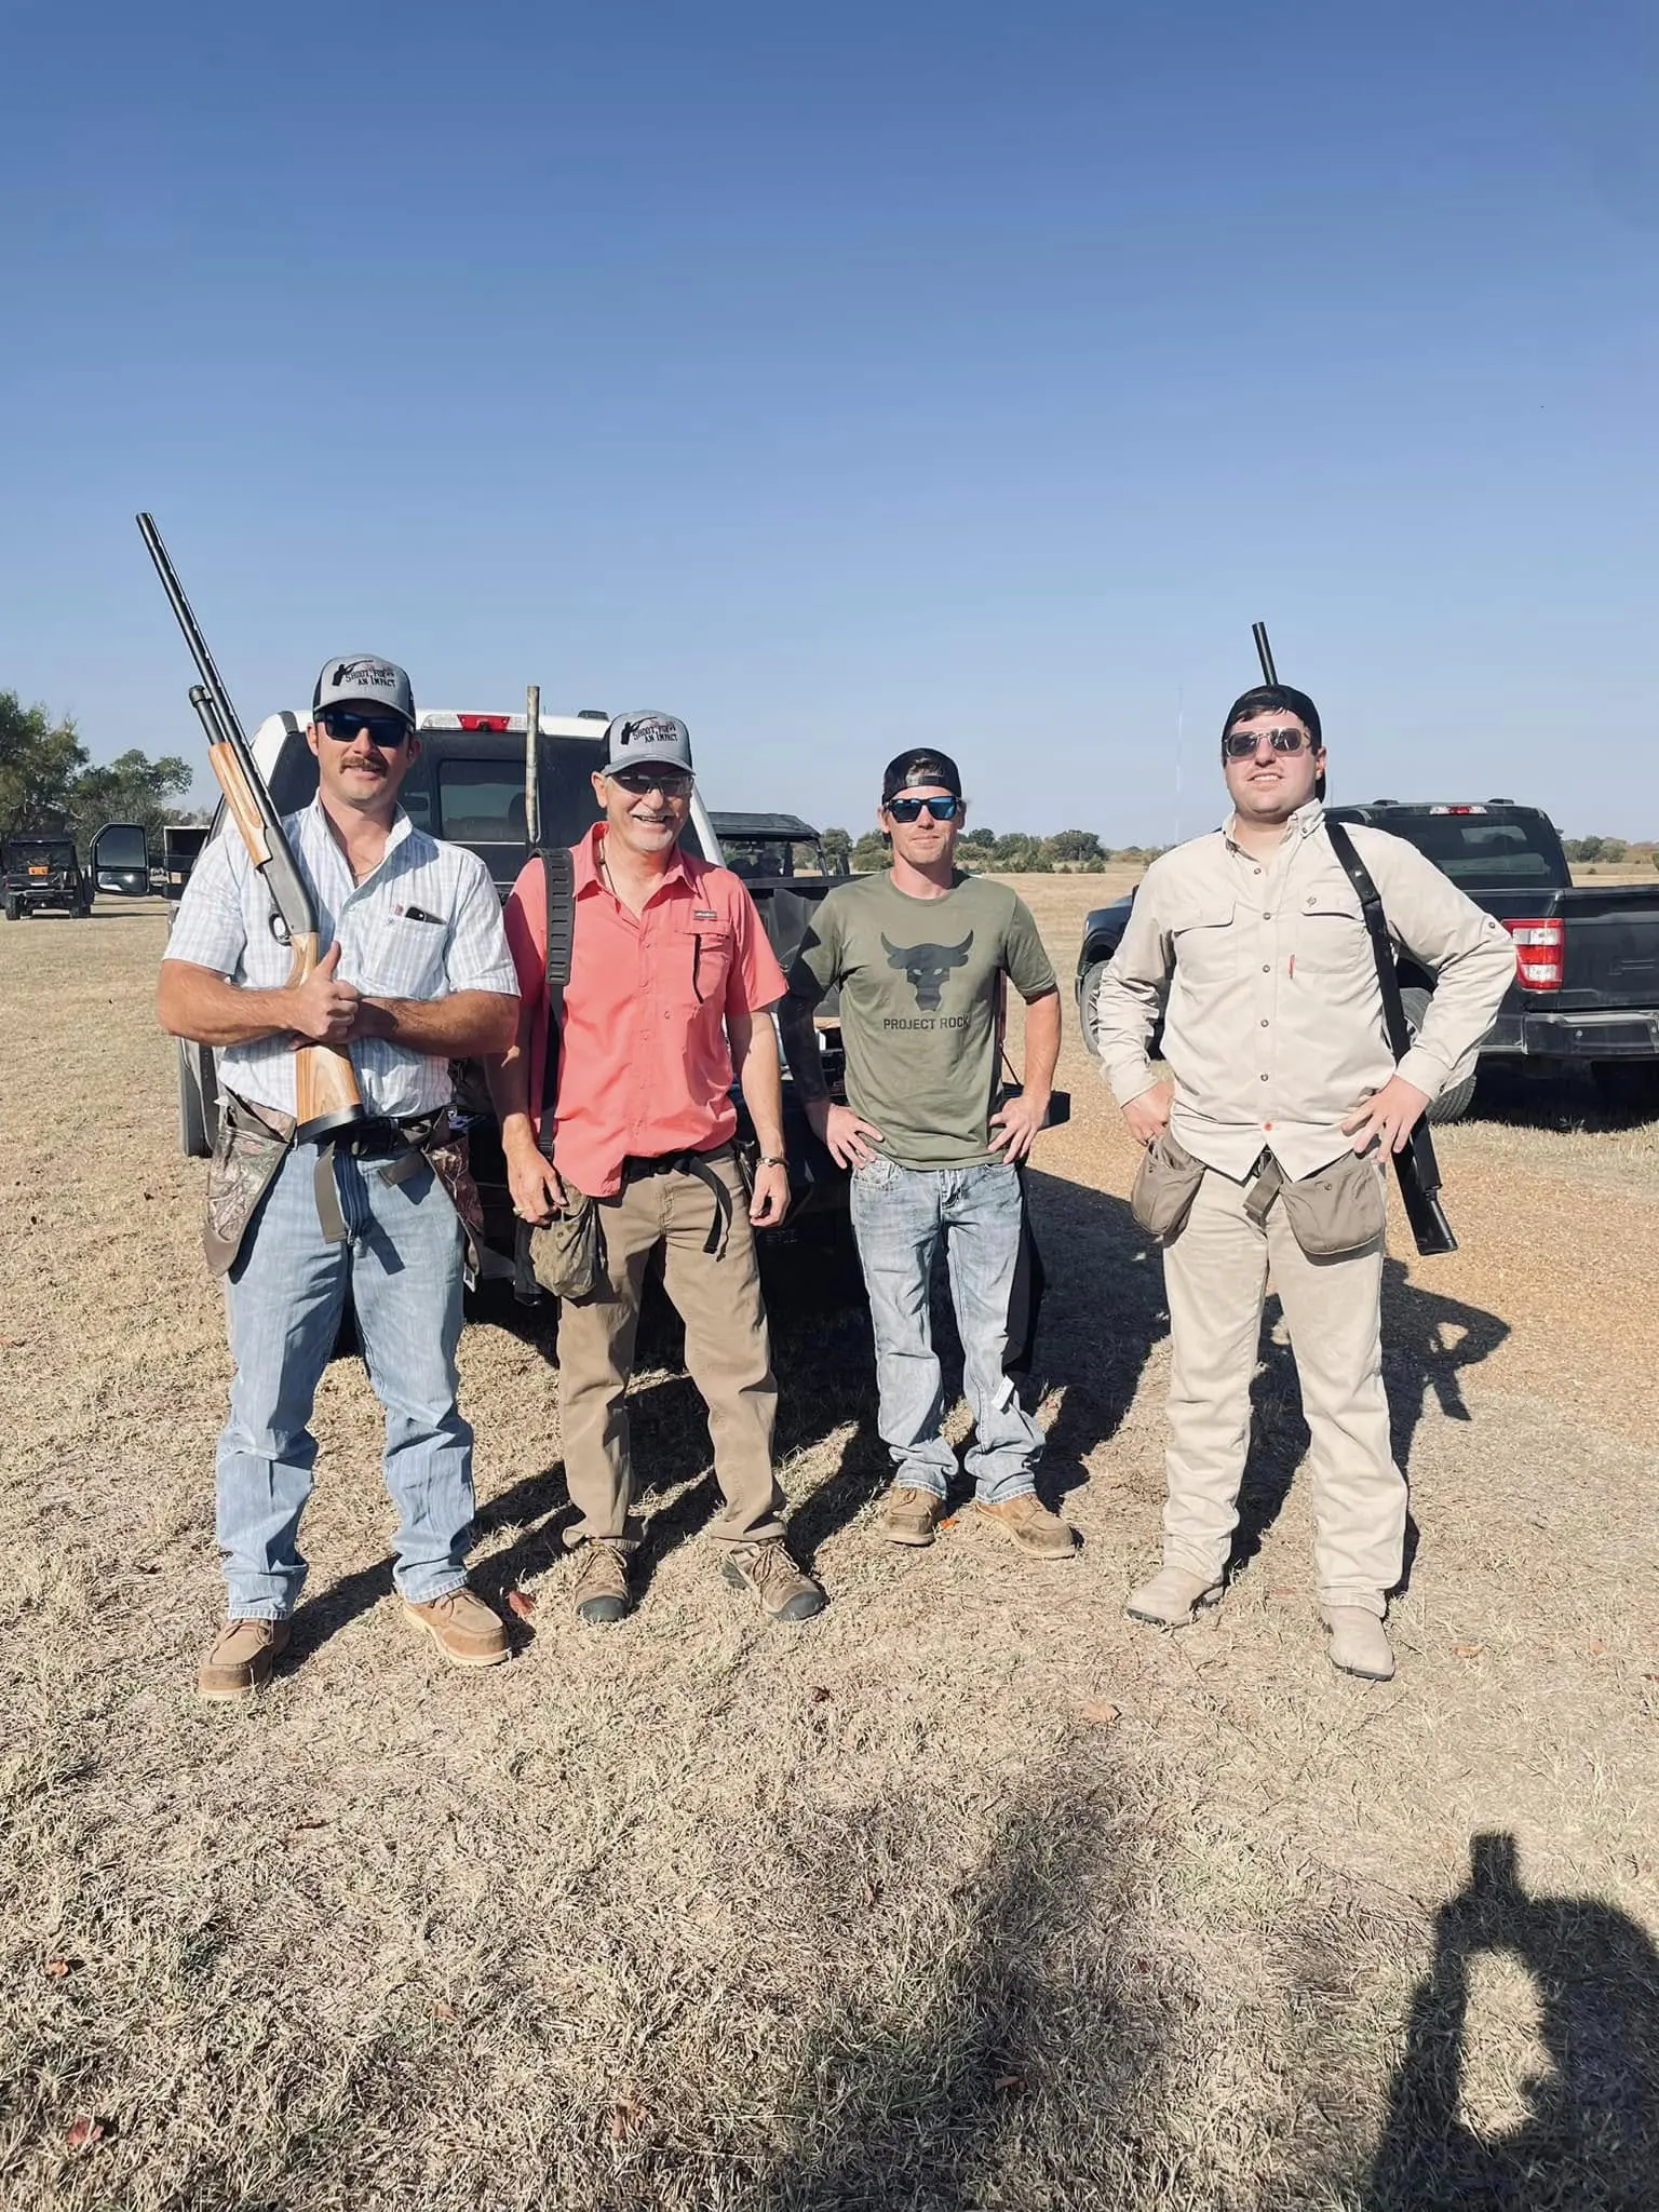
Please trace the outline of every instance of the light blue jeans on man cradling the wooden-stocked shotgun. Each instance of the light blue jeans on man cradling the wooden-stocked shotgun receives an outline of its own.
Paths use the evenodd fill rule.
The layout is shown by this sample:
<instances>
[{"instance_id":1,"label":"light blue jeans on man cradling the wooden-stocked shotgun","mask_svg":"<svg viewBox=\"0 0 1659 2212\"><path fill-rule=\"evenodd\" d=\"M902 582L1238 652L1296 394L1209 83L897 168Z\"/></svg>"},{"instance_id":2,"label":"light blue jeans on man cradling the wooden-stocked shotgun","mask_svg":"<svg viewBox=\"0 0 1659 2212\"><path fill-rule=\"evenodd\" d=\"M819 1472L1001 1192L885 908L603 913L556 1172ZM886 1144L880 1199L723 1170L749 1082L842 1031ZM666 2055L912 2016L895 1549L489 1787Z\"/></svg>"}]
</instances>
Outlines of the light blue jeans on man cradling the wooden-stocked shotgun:
<instances>
[{"instance_id":1,"label":"light blue jeans on man cradling the wooden-stocked shotgun","mask_svg":"<svg viewBox=\"0 0 1659 2212\"><path fill-rule=\"evenodd\" d=\"M398 1509L394 1582L427 1604L465 1579L473 1431L456 1409L460 1221L431 1168L383 1183L378 1159L334 1161L349 1241L323 1243L312 1170L296 1146L226 1281L230 1420L219 1436L219 1548L230 1619L281 1621L299 1604L299 1517L312 1495L312 1402L347 1285L363 1358L385 1407L385 1486Z\"/></svg>"}]
</instances>

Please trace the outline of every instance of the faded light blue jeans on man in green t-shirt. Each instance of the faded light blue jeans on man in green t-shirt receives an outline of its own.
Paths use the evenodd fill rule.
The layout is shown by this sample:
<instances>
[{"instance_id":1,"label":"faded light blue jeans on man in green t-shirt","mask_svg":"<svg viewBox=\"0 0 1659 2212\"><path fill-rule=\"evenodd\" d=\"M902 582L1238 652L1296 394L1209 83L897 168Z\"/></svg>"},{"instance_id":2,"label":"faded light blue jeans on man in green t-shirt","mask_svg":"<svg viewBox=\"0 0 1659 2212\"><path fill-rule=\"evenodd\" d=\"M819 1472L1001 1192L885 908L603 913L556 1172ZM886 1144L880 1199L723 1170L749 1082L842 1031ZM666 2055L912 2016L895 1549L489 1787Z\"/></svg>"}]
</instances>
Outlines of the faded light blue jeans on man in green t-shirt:
<instances>
[{"instance_id":1,"label":"faded light blue jeans on man in green t-shirt","mask_svg":"<svg viewBox=\"0 0 1659 2212\"><path fill-rule=\"evenodd\" d=\"M1002 1371L1009 1290L1020 1252L1020 1179L1002 1161L978 1168L854 1168L852 1228L876 1325L880 1438L894 1486L945 1498L956 1453L940 1436L945 1387L933 1352L929 1285L940 1237L962 1338L962 1387L973 1411L967 1469L987 1504L1035 1489L1042 1429Z\"/></svg>"}]
</instances>

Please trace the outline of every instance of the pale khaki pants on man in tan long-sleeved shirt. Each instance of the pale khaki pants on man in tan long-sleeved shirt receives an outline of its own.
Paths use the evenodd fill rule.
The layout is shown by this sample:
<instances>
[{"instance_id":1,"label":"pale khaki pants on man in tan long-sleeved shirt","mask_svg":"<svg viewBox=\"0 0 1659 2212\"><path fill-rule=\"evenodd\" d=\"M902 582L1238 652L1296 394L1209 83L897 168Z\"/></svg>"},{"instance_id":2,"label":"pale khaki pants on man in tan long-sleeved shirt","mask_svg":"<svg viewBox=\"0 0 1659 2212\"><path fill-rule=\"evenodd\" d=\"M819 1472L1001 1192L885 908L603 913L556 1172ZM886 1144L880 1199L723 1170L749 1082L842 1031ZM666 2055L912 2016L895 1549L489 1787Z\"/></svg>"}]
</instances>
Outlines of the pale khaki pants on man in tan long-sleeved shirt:
<instances>
[{"instance_id":1,"label":"pale khaki pants on man in tan long-sleeved shirt","mask_svg":"<svg viewBox=\"0 0 1659 2212\"><path fill-rule=\"evenodd\" d=\"M1259 1228L1243 1201L1245 1186L1210 1168L1164 1254L1172 1347L1164 1564L1210 1582L1228 1564L1272 1267L1312 1438L1318 1599L1380 1617L1405 1564L1407 1502L1383 1396L1383 1239L1354 1259L1307 1259L1283 1206Z\"/></svg>"}]
</instances>

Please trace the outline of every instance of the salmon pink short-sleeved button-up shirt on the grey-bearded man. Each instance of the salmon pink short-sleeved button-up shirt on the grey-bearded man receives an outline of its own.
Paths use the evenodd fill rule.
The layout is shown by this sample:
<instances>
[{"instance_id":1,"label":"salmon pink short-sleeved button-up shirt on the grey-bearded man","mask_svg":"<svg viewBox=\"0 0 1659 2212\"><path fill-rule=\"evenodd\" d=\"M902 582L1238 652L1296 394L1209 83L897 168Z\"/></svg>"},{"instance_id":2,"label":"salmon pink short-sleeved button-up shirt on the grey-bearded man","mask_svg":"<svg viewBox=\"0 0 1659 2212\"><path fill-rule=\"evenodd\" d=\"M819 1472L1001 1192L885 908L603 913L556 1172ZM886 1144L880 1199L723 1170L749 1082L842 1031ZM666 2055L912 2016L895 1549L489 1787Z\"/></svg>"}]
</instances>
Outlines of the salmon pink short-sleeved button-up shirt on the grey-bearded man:
<instances>
[{"instance_id":1,"label":"salmon pink short-sleeved button-up shirt on the grey-bearded man","mask_svg":"<svg viewBox=\"0 0 1659 2212\"><path fill-rule=\"evenodd\" d=\"M761 916L726 867L677 852L635 916L599 880L595 825L575 847L575 949L564 991L553 1166L608 1199L624 1159L710 1152L737 1133L728 1015L759 1013L785 982ZM546 1066L546 885L529 860L507 900L507 942L535 1009L531 1121Z\"/></svg>"}]
</instances>

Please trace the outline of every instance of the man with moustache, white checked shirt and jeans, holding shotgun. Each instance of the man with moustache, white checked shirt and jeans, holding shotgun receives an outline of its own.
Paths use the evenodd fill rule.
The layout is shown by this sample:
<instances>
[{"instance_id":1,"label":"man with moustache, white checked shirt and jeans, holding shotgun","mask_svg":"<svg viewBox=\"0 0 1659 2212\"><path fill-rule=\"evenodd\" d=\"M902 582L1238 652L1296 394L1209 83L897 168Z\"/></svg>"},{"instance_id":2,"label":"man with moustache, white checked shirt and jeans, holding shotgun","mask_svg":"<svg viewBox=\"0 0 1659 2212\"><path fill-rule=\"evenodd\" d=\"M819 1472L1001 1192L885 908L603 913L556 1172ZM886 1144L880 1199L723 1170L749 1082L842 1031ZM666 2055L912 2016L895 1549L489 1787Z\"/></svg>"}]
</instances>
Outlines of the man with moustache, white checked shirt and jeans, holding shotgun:
<instances>
[{"instance_id":1,"label":"man with moustache, white checked shirt and jeans, holding shotgun","mask_svg":"<svg viewBox=\"0 0 1659 2212\"><path fill-rule=\"evenodd\" d=\"M157 991L161 1026L221 1055L206 1243L237 1371L219 1438L230 1619L201 1663L208 1699L250 1697L288 1646L312 1400L347 1290L385 1407L405 1613L456 1666L507 1657L500 1619L467 1588L473 1431L456 1407L465 1230L451 1190L465 1203L469 1179L447 1121L449 1062L511 1044L518 975L484 863L398 807L416 754L403 668L327 661L307 743L316 801L283 832L323 960L292 980L268 883L226 825L190 874ZM349 1068L307 1141L296 1066L312 1046Z\"/></svg>"}]
</instances>

